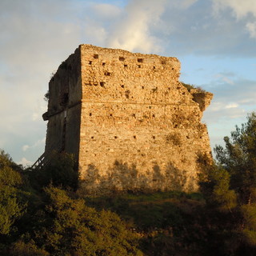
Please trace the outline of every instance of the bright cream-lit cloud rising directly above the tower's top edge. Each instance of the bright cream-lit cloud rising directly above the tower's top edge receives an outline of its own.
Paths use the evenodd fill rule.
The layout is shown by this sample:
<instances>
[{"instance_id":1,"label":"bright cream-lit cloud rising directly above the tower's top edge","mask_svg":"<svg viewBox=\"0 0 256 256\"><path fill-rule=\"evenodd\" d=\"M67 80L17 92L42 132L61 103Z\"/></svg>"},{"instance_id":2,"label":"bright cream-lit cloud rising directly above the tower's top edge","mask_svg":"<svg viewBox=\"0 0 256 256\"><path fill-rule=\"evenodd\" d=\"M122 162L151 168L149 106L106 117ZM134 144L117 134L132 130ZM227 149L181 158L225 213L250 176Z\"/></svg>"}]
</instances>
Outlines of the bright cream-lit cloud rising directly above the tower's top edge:
<instances>
[{"instance_id":1,"label":"bright cream-lit cloud rising directly above the tower's top edge","mask_svg":"<svg viewBox=\"0 0 256 256\"><path fill-rule=\"evenodd\" d=\"M123 18L109 34L107 45L143 53L158 52L161 42L151 34L158 26L166 0L131 0L123 12Z\"/></svg>"}]
</instances>

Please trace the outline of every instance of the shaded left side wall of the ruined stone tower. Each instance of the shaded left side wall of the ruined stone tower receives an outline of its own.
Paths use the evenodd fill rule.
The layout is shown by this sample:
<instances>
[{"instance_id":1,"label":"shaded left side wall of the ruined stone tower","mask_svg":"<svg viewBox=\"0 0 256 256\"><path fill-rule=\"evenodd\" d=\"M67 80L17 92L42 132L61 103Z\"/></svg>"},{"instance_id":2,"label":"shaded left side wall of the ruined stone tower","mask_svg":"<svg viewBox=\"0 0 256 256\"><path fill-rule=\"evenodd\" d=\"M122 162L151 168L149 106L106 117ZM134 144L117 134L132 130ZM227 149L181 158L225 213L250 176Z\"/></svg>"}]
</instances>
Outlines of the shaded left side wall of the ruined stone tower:
<instances>
[{"instance_id":1,"label":"shaded left side wall of the ruined stone tower","mask_svg":"<svg viewBox=\"0 0 256 256\"><path fill-rule=\"evenodd\" d=\"M49 82L46 152L65 150L78 161L81 121L81 58L75 50Z\"/></svg>"}]
</instances>

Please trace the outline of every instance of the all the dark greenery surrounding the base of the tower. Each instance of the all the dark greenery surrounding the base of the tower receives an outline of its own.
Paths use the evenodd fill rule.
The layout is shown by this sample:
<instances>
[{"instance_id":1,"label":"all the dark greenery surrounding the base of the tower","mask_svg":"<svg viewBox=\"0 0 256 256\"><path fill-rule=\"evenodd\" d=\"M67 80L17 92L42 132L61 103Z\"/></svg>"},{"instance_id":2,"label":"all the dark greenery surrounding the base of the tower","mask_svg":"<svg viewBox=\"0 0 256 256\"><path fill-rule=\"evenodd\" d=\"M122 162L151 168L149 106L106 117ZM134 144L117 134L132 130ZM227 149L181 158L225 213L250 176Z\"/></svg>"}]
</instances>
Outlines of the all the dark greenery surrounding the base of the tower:
<instances>
[{"instance_id":1,"label":"all the dark greenery surrounding the base of the tower","mask_svg":"<svg viewBox=\"0 0 256 256\"><path fill-rule=\"evenodd\" d=\"M252 113L225 138L226 147L215 147L217 164L200 160L202 194L171 191L89 198L76 190L72 156L53 154L44 170L24 173L2 152L0 223L7 205L10 222L2 221L7 225L1 224L1 238L8 236L10 241L2 240L0 254L139 255L142 250L147 256L255 255L255 135ZM32 194L28 206L25 176L26 186L38 186L26 188Z\"/></svg>"}]
</instances>

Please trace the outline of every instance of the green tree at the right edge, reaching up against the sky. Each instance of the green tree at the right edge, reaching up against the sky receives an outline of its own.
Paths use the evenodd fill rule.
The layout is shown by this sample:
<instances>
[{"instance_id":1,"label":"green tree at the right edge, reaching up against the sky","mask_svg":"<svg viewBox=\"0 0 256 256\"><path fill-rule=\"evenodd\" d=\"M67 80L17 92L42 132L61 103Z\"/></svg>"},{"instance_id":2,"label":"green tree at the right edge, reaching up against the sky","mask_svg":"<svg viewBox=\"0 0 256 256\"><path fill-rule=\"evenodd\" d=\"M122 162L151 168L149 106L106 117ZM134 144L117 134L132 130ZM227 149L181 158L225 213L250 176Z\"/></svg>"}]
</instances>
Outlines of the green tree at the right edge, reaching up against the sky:
<instances>
[{"instance_id":1,"label":"green tree at the right edge, reaching up against the sky","mask_svg":"<svg viewBox=\"0 0 256 256\"><path fill-rule=\"evenodd\" d=\"M218 162L230 174L230 188L235 190L241 204L256 202L256 114L225 137L226 148L216 146Z\"/></svg>"}]
</instances>

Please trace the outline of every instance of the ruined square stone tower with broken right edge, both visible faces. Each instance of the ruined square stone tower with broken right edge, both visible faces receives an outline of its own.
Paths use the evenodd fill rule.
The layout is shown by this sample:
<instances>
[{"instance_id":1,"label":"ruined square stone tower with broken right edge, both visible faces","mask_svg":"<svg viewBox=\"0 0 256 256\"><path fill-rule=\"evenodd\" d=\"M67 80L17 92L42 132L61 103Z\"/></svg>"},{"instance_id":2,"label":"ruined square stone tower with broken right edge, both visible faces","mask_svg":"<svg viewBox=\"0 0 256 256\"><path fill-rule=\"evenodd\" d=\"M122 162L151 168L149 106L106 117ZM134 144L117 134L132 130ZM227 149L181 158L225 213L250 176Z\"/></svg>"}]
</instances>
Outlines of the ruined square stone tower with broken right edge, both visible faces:
<instances>
[{"instance_id":1,"label":"ruined square stone tower with broken right edge, both visible faces","mask_svg":"<svg viewBox=\"0 0 256 256\"><path fill-rule=\"evenodd\" d=\"M179 74L177 58L79 46L49 83L46 152L74 154L92 193L196 190L212 94Z\"/></svg>"}]
</instances>

